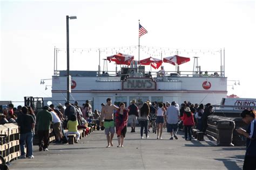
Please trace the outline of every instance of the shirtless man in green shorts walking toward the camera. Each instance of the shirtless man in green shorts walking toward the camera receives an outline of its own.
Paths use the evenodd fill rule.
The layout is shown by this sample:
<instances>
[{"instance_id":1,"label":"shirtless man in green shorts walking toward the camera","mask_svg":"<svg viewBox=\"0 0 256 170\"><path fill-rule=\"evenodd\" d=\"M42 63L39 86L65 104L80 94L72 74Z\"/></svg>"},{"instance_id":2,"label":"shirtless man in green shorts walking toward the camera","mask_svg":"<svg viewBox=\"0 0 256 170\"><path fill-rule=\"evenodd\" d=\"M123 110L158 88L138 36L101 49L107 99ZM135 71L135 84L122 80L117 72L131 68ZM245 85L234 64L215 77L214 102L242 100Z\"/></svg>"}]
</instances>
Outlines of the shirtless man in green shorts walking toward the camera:
<instances>
[{"instance_id":1,"label":"shirtless man in green shorts walking toward the camera","mask_svg":"<svg viewBox=\"0 0 256 170\"><path fill-rule=\"evenodd\" d=\"M107 146L113 146L112 139L114 137L114 119L113 119L113 110L119 109L115 105L111 104L111 98L107 98L106 105L102 107L100 115L100 126L102 126L102 121L104 119L105 134L107 138ZM111 133L111 135L109 134Z\"/></svg>"}]
</instances>

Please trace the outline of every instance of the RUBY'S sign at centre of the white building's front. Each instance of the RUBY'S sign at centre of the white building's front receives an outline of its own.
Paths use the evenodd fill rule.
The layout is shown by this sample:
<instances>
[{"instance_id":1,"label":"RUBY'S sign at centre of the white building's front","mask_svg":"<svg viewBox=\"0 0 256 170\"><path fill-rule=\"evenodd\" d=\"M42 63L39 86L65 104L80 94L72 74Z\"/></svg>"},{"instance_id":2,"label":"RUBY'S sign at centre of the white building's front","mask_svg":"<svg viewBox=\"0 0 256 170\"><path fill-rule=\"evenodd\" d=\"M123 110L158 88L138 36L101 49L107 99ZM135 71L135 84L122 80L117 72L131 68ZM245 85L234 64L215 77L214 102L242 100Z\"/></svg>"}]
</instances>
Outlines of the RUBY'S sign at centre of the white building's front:
<instances>
[{"instance_id":1,"label":"RUBY'S sign at centre of the white building's front","mask_svg":"<svg viewBox=\"0 0 256 170\"><path fill-rule=\"evenodd\" d=\"M157 83L151 77L127 77L123 90L156 90Z\"/></svg>"}]
</instances>

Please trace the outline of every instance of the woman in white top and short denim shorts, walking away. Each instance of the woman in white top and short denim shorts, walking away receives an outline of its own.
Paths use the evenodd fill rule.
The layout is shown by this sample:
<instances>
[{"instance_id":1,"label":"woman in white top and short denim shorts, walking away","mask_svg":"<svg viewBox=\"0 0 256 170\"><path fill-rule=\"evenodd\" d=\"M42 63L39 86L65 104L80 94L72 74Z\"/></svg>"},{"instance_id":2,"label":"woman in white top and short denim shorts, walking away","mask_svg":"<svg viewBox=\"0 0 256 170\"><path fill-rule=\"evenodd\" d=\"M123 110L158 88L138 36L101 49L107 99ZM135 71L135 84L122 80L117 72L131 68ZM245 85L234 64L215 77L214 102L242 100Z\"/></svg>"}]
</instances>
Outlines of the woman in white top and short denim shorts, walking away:
<instances>
[{"instance_id":1,"label":"woman in white top and short denim shorts, walking away","mask_svg":"<svg viewBox=\"0 0 256 170\"><path fill-rule=\"evenodd\" d=\"M161 136L162 136L163 124L164 124L164 112L166 110L165 110L165 108L163 108L163 103L159 103L158 106L159 106L159 108L156 110L157 139L163 139L163 138L161 138ZM159 129L160 129L160 136L159 136Z\"/></svg>"}]
</instances>

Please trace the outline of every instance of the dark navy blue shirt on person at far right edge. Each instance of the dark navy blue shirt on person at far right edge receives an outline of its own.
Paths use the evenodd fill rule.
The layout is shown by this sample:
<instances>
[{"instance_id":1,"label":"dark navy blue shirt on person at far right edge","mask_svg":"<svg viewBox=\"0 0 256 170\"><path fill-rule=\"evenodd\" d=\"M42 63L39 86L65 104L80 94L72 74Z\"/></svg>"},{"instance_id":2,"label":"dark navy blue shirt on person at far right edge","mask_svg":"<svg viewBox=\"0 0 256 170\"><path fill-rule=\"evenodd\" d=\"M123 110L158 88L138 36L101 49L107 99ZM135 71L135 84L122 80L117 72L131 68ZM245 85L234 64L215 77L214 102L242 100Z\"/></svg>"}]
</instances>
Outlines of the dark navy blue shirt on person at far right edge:
<instances>
[{"instance_id":1,"label":"dark navy blue shirt on person at far right edge","mask_svg":"<svg viewBox=\"0 0 256 170\"><path fill-rule=\"evenodd\" d=\"M256 121L255 119L250 123L246 131L250 138L246 139L246 153L245 155L256 156Z\"/></svg>"}]
</instances>

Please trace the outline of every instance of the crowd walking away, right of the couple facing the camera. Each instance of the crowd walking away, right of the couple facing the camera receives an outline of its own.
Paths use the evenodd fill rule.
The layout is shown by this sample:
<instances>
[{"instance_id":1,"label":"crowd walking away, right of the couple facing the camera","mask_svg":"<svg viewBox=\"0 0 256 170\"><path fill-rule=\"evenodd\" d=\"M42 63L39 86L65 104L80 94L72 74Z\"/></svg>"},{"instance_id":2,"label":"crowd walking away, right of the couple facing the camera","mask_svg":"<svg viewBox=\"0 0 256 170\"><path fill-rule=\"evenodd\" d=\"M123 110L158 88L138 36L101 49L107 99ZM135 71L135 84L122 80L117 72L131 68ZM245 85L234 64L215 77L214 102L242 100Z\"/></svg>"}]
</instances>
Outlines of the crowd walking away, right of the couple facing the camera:
<instances>
[{"instance_id":1,"label":"crowd walking away, right of the couple facing the camera","mask_svg":"<svg viewBox=\"0 0 256 170\"><path fill-rule=\"evenodd\" d=\"M143 139L143 132L146 134L146 138L149 138L149 117L156 116L157 124L157 139L163 139L163 128L167 128L167 132L171 134L170 140L173 138L178 139L177 130L178 125L184 126L185 139L191 140L191 128L195 126L200 131L206 132L207 129L207 117L213 114L212 105L206 104L191 104L184 101L180 106L175 101L169 103L150 102L147 101L144 104L136 105L136 100L131 101L129 109L129 117L131 120L131 132L135 132L135 123L138 119L140 124L140 136ZM180 128L181 129L181 128Z\"/></svg>"}]
</instances>

